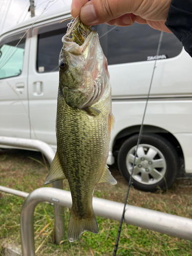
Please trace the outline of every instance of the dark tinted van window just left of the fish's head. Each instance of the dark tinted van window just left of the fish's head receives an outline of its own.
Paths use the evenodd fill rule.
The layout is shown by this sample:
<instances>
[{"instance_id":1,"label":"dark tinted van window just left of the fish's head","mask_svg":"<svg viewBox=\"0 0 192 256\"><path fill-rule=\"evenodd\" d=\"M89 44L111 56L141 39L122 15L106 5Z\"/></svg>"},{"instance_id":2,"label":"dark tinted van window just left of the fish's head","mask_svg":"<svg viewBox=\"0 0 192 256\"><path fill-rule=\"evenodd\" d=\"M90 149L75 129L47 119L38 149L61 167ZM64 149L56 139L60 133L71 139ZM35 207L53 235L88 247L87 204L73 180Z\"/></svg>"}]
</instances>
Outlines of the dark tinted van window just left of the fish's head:
<instances>
[{"instance_id":1,"label":"dark tinted van window just left of the fish's head","mask_svg":"<svg viewBox=\"0 0 192 256\"><path fill-rule=\"evenodd\" d=\"M54 72L59 70L59 54L62 37L67 28L49 31L38 35L37 72Z\"/></svg>"}]
</instances>

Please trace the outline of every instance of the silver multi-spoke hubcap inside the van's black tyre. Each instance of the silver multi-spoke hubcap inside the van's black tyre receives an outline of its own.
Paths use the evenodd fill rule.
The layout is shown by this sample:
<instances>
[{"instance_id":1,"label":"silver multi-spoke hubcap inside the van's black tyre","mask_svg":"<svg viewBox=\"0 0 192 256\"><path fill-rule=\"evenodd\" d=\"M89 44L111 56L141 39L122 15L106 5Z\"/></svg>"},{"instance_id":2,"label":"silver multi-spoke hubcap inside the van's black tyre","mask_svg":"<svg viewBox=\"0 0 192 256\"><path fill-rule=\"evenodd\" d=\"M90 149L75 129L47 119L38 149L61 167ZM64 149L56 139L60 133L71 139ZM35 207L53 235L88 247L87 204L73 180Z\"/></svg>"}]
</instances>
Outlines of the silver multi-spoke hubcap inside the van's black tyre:
<instances>
[{"instance_id":1,"label":"silver multi-spoke hubcap inside the van's black tyre","mask_svg":"<svg viewBox=\"0 0 192 256\"><path fill-rule=\"evenodd\" d=\"M126 156L126 167L131 174L135 158L136 146ZM166 172L166 161L163 154L155 146L140 144L137 150L133 179L150 185L163 179Z\"/></svg>"}]
</instances>

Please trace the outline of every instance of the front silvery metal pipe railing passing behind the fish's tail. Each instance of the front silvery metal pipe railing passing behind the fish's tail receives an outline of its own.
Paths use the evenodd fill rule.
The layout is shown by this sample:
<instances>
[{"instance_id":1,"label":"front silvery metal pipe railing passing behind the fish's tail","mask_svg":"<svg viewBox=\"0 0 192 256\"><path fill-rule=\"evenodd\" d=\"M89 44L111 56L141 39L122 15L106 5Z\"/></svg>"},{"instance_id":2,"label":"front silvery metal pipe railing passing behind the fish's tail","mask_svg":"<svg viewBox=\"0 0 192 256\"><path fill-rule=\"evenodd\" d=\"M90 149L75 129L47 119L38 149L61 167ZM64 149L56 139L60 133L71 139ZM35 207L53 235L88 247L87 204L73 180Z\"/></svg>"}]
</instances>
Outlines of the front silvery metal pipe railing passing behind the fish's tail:
<instances>
[{"instance_id":1,"label":"front silvery metal pipe railing passing behind the fish's tail","mask_svg":"<svg viewBox=\"0 0 192 256\"><path fill-rule=\"evenodd\" d=\"M20 215L23 256L35 256L33 214L36 205L43 201L64 207L72 206L71 193L57 188L37 188L27 197ZM100 217L120 221L123 207L122 203L93 198L93 209ZM126 205L124 222L192 241L192 220L184 217Z\"/></svg>"}]
</instances>

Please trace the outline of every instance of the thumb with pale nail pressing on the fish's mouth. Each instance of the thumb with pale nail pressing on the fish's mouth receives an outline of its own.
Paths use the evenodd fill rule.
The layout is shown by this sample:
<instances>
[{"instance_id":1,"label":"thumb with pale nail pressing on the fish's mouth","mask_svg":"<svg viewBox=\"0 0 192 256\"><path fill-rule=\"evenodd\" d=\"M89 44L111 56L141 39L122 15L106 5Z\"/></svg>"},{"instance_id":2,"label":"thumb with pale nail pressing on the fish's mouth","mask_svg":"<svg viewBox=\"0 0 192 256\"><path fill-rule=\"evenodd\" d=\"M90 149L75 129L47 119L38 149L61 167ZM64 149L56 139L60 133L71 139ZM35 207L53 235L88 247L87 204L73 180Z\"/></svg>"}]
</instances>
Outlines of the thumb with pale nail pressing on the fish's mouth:
<instances>
[{"instance_id":1,"label":"thumb with pale nail pressing on the fish's mouth","mask_svg":"<svg viewBox=\"0 0 192 256\"><path fill-rule=\"evenodd\" d=\"M85 1L84 1L85 2ZM138 8L134 0L91 0L80 10L80 19L86 25L107 23Z\"/></svg>"}]
</instances>

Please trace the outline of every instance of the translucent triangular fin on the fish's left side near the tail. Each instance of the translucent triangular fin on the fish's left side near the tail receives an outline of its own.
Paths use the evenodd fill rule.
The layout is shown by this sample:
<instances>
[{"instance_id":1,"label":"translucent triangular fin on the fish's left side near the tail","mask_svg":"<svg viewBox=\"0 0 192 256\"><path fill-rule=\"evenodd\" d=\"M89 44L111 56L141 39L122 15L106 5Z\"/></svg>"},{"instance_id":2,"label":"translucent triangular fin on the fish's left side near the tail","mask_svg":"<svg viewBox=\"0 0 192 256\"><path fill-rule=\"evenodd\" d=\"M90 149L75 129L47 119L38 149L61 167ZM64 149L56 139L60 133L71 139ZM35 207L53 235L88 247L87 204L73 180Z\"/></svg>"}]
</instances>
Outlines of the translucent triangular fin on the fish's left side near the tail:
<instances>
[{"instance_id":1,"label":"translucent triangular fin on the fish's left side near the tail","mask_svg":"<svg viewBox=\"0 0 192 256\"><path fill-rule=\"evenodd\" d=\"M47 175L45 185L56 180L67 179L65 174L63 173L62 166L59 161L58 153L56 152L53 162L51 164L49 173Z\"/></svg>"}]
</instances>

